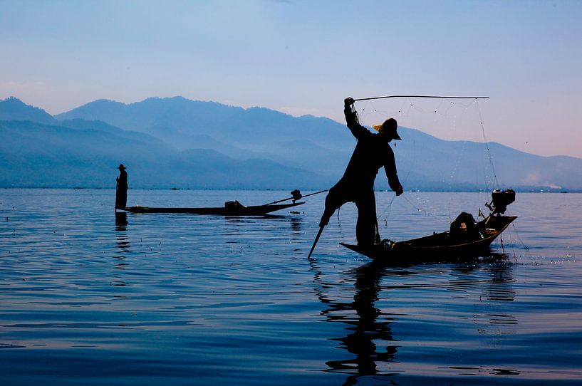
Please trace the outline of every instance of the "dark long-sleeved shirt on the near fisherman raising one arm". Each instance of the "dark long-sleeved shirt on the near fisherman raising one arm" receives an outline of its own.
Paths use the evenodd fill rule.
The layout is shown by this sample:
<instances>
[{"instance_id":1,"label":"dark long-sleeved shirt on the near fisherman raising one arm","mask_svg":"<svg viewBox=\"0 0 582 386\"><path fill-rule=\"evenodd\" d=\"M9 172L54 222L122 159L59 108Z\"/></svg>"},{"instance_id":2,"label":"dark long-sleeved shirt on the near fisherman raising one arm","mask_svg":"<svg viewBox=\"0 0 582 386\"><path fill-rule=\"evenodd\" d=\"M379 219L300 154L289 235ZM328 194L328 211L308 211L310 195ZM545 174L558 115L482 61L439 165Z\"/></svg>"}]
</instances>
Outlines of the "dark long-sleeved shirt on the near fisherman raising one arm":
<instances>
[{"instance_id":1,"label":"dark long-sleeved shirt on the near fisherman raising one arm","mask_svg":"<svg viewBox=\"0 0 582 386\"><path fill-rule=\"evenodd\" d=\"M355 111L350 106L346 106L343 113L345 114L345 122L355 139L358 140L358 144L355 145L342 179L347 182L373 184L378 169L384 167L390 189L396 192L400 187L400 181L396 172L394 152L388 145L387 137L373 134L360 125Z\"/></svg>"}]
</instances>

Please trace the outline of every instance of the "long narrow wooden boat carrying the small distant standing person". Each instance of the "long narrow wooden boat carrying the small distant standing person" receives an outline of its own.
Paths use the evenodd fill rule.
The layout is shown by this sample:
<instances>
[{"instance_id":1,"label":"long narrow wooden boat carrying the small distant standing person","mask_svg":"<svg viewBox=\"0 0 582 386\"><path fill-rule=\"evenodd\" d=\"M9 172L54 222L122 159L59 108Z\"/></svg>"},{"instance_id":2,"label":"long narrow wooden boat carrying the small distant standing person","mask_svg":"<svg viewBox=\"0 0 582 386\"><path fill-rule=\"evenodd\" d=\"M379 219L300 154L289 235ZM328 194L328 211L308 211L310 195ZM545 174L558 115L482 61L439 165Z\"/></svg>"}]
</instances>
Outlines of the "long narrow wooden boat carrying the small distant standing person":
<instances>
[{"instance_id":1,"label":"long narrow wooden boat carrying the small distant standing person","mask_svg":"<svg viewBox=\"0 0 582 386\"><path fill-rule=\"evenodd\" d=\"M121 208L130 213L188 213L188 214L215 214L218 216L264 216L281 209L296 207L305 204L304 202L293 202L290 204L268 204L246 207L244 205L225 205L214 208L151 208L135 207Z\"/></svg>"}]
</instances>

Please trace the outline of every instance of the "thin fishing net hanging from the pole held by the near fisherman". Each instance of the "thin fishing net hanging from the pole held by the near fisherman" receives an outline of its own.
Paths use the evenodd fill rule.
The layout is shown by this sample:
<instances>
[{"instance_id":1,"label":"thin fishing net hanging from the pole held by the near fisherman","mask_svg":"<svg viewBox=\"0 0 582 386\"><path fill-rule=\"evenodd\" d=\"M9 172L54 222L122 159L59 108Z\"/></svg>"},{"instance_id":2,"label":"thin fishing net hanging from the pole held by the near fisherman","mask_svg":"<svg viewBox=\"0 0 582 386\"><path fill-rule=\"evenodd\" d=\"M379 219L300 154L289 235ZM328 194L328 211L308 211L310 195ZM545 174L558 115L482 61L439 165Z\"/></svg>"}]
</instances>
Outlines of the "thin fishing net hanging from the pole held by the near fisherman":
<instances>
[{"instance_id":1,"label":"thin fishing net hanging from the pole held by the near fisherman","mask_svg":"<svg viewBox=\"0 0 582 386\"><path fill-rule=\"evenodd\" d=\"M479 99L385 98L358 100L354 107L360 124L367 127L387 118L397 120L402 141L390 145L405 188L402 197L415 211L433 216L443 209L415 192L483 192L483 202L487 202L492 189L498 187ZM378 178L376 186L383 190L380 183L385 184ZM380 224L387 221L391 205L378 206ZM448 212L450 202L445 207L452 221L457 213Z\"/></svg>"}]
</instances>

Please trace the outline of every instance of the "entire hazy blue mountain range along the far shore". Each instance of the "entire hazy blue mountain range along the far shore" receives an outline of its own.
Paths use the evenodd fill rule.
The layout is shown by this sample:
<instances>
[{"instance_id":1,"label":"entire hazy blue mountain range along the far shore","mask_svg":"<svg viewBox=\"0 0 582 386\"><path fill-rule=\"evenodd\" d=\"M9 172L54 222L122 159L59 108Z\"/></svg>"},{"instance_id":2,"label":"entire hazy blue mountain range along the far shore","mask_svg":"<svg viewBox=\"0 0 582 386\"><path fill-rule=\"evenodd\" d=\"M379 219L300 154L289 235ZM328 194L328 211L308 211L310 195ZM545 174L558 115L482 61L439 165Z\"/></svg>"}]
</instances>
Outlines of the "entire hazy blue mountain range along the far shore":
<instances>
[{"instance_id":1,"label":"entire hazy blue mountain range along the far shore","mask_svg":"<svg viewBox=\"0 0 582 386\"><path fill-rule=\"evenodd\" d=\"M576 157L398 130L405 140L395 157L408 190L582 190ZM0 187L115 187L123 163L134 188L325 189L354 146L345 124L328 118L182 97L95 100L54 116L0 101ZM387 189L378 176L377 189Z\"/></svg>"}]
</instances>

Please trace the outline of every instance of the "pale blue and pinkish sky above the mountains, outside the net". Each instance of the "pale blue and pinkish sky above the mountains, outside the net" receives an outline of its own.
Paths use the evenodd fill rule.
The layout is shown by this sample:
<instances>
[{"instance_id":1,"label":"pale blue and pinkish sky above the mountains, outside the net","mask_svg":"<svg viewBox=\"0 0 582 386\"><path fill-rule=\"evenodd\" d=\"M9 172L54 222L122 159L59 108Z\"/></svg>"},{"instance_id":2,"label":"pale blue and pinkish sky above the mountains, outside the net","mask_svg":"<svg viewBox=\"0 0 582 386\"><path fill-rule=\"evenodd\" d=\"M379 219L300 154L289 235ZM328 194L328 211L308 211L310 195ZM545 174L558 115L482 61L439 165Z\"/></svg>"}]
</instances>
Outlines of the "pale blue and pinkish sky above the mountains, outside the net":
<instances>
[{"instance_id":1,"label":"pale blue and pinkish sky above the mountains, outside the net","mask_svg":"<svg viewBox=\"0 0 582 386\"><path fill-rule=\"evenodd\" d=\"M342 122L347 96L487 95L488 140L582 157L581 15L579 0L0 0L0 98L56 114L182 95Z\"/></svg>"}]
</instances>

